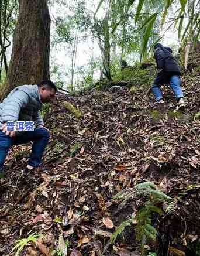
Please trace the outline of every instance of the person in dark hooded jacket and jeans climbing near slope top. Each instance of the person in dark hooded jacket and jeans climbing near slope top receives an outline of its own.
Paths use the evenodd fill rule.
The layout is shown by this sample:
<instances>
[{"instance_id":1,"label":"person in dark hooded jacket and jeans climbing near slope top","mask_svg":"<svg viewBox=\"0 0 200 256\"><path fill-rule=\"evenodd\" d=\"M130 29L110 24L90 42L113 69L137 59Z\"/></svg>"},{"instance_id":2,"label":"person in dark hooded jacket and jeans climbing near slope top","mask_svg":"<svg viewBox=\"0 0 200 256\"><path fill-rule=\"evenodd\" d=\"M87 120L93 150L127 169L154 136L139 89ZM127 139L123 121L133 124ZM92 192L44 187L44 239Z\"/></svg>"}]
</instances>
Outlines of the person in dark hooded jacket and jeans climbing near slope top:
<instances>
[{"instance_id":1,"label":"person in dark hooded jacket and jeans climbing near slope top","mask_svg":"<svg viewBox=\"0 0 200 256\"><path fill-rule=\"evenodd\" d=\"M178 100L178 108L185 106L184 95L181 88L181 70L178 62L172 55L170 47L164 47L161 43L154 46L154 58L157 63L157 77L154 80L152 91L158 103L164 103L161 85L170 83L171 89Z\"/></svg>"}]
</instances>

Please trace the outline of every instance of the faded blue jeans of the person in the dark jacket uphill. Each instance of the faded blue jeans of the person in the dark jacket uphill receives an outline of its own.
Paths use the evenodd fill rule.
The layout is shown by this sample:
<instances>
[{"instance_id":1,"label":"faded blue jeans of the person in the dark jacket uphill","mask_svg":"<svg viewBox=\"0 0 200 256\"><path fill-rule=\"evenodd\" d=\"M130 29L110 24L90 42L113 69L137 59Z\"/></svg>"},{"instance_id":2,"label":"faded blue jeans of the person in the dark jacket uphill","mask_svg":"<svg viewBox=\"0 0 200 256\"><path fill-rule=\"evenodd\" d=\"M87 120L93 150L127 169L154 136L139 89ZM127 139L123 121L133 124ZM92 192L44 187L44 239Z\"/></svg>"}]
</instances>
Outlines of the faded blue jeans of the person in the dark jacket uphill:
<instances>
[{"instance_id":1,"label":"faded blue jeans of the person in the dark jacket uphill","mask_svg":"<svg viewBox=\"0 0 200 256\"><path fill-rule=\"evenodd\" d=\"M180 78L175 75L175 76L171 76L168 81L170 82L171 89L173 90L176 98L177 99L183 98L184 95L182 93ZM163 94L162 94L160 85L153 84L152 91L153 91L153 94L156 97L157 101L160 100L161 98L163 98Z\"/></svg>"}]
</instances>

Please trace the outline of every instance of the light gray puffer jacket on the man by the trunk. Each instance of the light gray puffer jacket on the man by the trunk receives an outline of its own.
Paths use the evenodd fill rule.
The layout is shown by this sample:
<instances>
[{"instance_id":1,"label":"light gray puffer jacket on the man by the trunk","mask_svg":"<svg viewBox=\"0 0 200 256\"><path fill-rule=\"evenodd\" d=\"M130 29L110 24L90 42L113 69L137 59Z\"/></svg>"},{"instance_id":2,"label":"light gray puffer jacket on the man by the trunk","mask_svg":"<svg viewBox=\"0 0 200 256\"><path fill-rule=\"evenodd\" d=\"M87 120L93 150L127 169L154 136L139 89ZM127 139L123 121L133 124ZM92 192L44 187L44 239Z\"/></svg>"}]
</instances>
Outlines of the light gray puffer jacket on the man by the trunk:
<instances>
[{"instance_id":1,"label":"light gray puffer jacket on the man by the trunk","mask_svg":"<svg viewBox=\"0 0 200 256\"><path fill-rule=\"evenodd\" d=\"M0 103L0 130L7 121L33 121L35 127L44 125L40 114L42 101L37 84L18 86ZM23 132L17 132L17 135Z\"/></svg>"}]
</instances>

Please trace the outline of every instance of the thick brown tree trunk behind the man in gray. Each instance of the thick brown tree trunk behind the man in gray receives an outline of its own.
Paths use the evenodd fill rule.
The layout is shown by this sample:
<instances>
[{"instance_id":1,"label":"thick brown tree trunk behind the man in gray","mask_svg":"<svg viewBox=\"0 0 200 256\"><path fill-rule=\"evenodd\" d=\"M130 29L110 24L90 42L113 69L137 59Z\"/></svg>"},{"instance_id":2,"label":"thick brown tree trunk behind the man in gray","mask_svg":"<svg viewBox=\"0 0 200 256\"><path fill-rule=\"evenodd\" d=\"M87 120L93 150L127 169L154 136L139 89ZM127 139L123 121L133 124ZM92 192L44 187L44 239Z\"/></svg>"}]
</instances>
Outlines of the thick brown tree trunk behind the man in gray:
<instances>
[{"instance_id":1,"label":"thick brown tree trunk behind the man in gray","mask_svg":"<svg viewBox=\"0 0 200 256\"><path fill-rule=\"evenodd\" d=\"M0 99L16 86L49 79L50 22L46 0L19 0L11 62Z\"/></svg>"}]
</instances>

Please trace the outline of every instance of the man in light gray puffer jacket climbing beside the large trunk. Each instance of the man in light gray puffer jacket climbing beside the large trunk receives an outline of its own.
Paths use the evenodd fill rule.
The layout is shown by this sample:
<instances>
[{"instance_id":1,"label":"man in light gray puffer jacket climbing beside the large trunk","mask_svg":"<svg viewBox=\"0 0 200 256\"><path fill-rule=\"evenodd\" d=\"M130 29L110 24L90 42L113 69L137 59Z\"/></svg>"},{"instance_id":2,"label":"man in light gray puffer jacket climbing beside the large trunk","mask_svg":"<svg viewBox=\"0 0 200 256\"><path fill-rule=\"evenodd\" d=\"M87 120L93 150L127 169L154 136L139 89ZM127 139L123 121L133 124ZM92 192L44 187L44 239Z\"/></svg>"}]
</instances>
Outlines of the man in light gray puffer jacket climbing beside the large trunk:
<instances>
[{"instance_id":1,"label":"man in light gray puffer jacket climbing beside the large trunk","mask_svg":"<svg viewBox=\"0 0 200 256\"><path fill-rule=\"evenodd\" d=\"M39 85L18 86L0 103L0 176L12 145L33 141L26 172L40 165L49 142L50 131L44 127L40 109L53 100L57 87L50 80Z\"/></svg>"}]
</instances>

